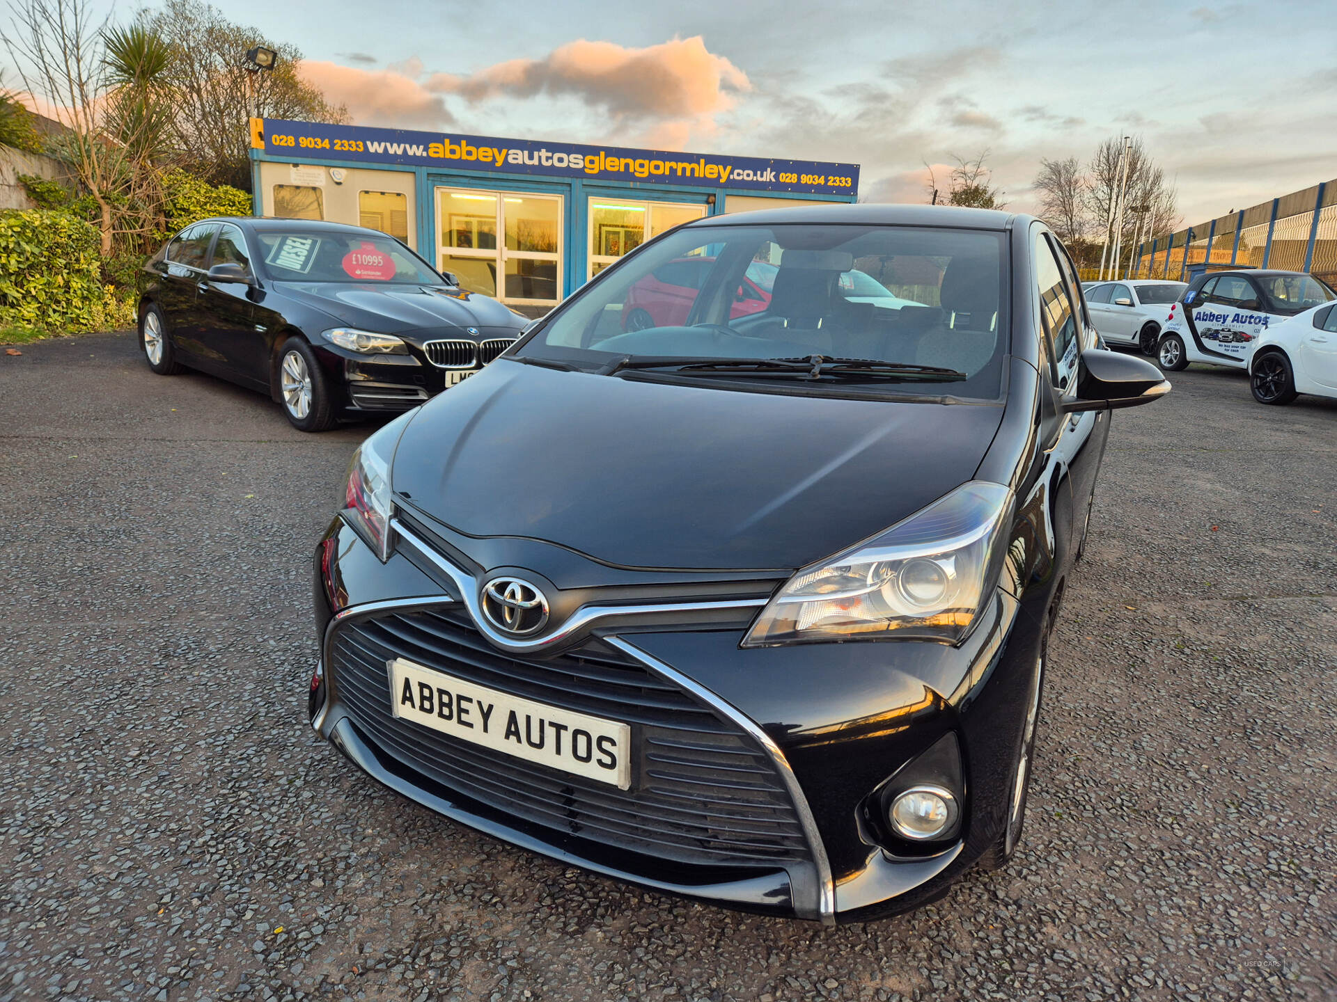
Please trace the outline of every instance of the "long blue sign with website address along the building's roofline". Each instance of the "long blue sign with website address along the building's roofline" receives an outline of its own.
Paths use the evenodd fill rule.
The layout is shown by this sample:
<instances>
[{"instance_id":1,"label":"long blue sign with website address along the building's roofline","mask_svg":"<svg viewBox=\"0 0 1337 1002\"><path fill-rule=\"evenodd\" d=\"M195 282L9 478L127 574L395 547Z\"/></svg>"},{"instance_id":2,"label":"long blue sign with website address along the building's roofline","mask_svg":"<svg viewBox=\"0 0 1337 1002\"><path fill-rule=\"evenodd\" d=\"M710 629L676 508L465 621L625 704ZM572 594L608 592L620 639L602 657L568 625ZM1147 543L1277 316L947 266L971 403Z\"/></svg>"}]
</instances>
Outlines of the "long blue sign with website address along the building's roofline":
<instances>
[{"instance_id":1,"label":"long blue sign with website address along the building's roofline","mask_svg":"<svg viewBox=\"0 0 1337 1002\"><path fill-rule=\"evenodd\" d=\"M651 180L836 195L852 195L858 190L858 164L854 163L677 154L286 119L251 119L251 147L270 156L303 160L393 163L587 180Z\"/></svg>"}]
</instances>

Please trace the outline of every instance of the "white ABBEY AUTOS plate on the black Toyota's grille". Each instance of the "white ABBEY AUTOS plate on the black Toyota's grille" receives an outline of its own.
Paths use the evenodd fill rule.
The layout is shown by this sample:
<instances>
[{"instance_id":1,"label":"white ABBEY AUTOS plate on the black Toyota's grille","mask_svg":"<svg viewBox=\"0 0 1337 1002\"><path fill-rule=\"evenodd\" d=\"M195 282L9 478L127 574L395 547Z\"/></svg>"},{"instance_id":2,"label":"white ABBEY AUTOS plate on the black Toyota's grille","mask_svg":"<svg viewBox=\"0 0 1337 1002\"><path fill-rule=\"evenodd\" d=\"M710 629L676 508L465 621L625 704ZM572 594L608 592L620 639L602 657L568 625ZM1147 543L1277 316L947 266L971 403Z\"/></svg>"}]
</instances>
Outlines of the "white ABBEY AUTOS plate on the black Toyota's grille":
<instances>
[{"instance_id":1,"label":"white ABBEY AUTOS plate on the black Toyota's grille","mask_svg":"<svg viewBox=\"0 0 1337 1002\"><path fill-rule=\"evenodd\" d=\"M489 689L396 657L388 663L394 716L525 762L631 786L631 728Z\"/></svg>"}]
</instances>

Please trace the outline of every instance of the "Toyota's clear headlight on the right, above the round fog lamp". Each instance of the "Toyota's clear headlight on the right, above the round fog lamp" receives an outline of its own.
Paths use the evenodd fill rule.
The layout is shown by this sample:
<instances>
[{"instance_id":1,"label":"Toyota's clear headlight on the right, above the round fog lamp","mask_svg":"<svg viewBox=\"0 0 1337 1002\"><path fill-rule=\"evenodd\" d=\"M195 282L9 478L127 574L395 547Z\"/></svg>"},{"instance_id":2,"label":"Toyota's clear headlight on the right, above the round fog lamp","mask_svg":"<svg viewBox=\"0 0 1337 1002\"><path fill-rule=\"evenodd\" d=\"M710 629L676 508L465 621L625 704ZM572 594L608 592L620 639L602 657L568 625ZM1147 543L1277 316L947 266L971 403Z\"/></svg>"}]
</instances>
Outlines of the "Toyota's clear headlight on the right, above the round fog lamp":
<instances>
[{"instance_id":1,"label":"Toyota's clear headlight on the right, above the round fog lamp","mask_svg":"<svg viewBox=\"0 0 1337 1002\"><path fill-rule=\"evenodd\" d=\"M956 644L992 593L1012 492L971 481L834 557L801 569L743 647L813 640L932 639Z\"/></svg>"}]
</instances>

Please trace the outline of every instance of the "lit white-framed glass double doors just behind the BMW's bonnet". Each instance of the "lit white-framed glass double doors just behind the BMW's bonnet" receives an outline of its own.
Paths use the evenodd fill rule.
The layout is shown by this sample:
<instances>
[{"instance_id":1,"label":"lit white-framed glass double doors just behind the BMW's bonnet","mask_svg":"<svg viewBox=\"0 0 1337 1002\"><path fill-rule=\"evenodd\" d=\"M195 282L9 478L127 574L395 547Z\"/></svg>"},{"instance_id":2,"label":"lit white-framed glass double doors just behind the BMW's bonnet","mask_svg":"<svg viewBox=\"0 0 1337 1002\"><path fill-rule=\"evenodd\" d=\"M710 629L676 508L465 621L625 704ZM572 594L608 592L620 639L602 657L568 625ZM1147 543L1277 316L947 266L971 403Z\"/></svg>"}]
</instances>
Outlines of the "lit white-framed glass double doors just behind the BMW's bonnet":
<instances>
[{"instance_id":1,"label":"lit white-framed glass double doors just behind the BMW's bonnet","mask_svg":"<svg viewBox=\"0 0 1337 1002\"><path fill-rule=\"evenodd\" d=\"M440 266L461 289L509 306L551 307L562 299L560 195L459 188L436 195Z\"/></svg>"}]
</instances>

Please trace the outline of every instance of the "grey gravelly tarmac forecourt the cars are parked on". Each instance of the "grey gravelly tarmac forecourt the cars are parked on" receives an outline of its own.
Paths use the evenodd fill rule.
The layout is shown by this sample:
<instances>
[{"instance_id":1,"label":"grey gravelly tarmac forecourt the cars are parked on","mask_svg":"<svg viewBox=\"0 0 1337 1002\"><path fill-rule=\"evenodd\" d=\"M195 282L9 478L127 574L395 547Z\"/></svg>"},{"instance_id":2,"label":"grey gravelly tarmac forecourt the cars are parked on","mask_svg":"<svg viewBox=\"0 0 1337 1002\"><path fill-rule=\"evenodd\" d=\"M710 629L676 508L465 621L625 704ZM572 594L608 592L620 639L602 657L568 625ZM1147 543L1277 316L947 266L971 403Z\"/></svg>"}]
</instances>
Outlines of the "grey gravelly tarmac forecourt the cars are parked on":
<instances>
[{"instance_id":1,"label":"grey gravelly tarmac forecourt the cars are parked on","mask_svg":"<svg viewBox=\"0 0 1337 1002\"><path fill-rule=\"evenodd\" d=\"M1115 417L1023 851L824 929L476 835L305 721L310 546L365 428L0 355L0 999L1337 997L1337 402Z\"/></svg>"}]
</instances>

